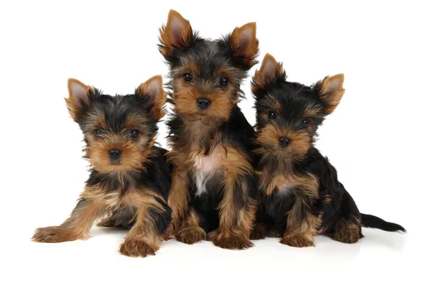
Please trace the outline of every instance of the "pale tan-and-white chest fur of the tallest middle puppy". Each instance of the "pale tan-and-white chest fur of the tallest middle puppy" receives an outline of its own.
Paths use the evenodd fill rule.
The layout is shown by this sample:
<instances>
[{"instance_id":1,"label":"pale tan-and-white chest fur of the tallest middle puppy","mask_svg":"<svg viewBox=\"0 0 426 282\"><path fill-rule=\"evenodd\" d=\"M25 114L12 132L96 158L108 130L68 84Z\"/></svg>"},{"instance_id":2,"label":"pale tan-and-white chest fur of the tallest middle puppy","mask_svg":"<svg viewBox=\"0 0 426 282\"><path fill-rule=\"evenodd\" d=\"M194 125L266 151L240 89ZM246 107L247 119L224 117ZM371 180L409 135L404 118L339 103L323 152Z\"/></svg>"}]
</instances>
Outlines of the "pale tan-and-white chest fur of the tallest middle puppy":
<instances>
[{"instance_id":1,"label":"pale tan-and-white chest fur of the tallest middle puppy","mask_svg":"<svg viewBox=\"0 0 426 282\"><path fill-rule=\"evenodd\" d=\"M195 195L206 193L209 186L218 184L226 167L226 152L223 147L216 147L210 154L193 152L190 154L190 174L195 188Z\"/></svg>"}]
</instances>

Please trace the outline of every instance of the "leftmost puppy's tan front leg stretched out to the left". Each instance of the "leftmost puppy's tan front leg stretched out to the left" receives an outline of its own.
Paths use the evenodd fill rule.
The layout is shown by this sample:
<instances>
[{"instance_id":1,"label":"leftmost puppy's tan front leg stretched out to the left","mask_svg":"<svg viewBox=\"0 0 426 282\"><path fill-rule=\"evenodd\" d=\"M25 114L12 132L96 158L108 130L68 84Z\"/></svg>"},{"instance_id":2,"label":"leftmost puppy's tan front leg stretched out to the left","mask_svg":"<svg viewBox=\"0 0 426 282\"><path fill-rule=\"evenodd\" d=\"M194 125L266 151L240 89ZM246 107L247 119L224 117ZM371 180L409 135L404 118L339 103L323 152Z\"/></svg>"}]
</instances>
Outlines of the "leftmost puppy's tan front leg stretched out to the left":
<instances>
[{"instance_id":1,"label":"leftmost puppy's tan front leg stretched out to the left","mask_svg":"<svg viewBox=\"0 0 426 282\"><path fill-rule=\"evenodd\" d=\"M77 239L87 239L89 230L96 220L104 212L103 206L92 200L80 198L70 215L59 226L38 228L33 235L36 242L66 242Z\"/></svg>"}]
</instances>

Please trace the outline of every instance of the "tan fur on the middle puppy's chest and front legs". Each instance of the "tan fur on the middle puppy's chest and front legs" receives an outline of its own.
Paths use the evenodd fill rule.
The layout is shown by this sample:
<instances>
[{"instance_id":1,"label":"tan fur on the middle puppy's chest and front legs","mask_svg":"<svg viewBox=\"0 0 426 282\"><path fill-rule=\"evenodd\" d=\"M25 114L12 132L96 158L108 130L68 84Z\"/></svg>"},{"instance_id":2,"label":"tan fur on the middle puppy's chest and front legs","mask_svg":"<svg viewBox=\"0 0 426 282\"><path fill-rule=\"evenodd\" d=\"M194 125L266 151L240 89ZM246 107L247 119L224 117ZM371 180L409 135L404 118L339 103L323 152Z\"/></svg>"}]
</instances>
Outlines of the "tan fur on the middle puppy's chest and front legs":
<instances>
[{"instance_id":1,"label":"tan fur on the middle puppy's chest and front legs","mask_svg":"<svg viewBox=\"0 0 426 282\"><path fill-rule=\"evenodd\" d=\"M215 234L210 234L210 239L219 247L227 249L244 249L251 247L249 233L253 227L256 213L256 203L253 200L247 203L246 208L236 210L234 208L233 196L238 175L252 174L253 167L249 162L249 157L241 154L234 147L222 145L219 141L220 135L212 140L212 150L205 154L204 150L198 147L197 143L180 147L179 153L170 152L170 159L180 164L180 175L177 171L173 174L172 190L169 195L169 205L173 210L173 222L179 226L175 230L175 236L182 242L193 244L205 238L204 231L199 227L195 210L187 211L187 171L195 169L200 165L200 169L207 168L210 172L217 171L223 175L224 192L223 199L219 203L219 228ZM182 149L185 149L183 151ZM185 174L185 175L184 175ZM179 177L178 177L179 175ZM240 184L243 193L248 196L248 188L245 184ZM173 191L173 189L176 189ZM185 196L184 196L185 195ZM187 212L185 212L187 211ZM185 217L182 218L182 215ZM180 218L180 220L178 220ZM190 234L192 232L192 235Z\"/></svg>"}]
</instances>

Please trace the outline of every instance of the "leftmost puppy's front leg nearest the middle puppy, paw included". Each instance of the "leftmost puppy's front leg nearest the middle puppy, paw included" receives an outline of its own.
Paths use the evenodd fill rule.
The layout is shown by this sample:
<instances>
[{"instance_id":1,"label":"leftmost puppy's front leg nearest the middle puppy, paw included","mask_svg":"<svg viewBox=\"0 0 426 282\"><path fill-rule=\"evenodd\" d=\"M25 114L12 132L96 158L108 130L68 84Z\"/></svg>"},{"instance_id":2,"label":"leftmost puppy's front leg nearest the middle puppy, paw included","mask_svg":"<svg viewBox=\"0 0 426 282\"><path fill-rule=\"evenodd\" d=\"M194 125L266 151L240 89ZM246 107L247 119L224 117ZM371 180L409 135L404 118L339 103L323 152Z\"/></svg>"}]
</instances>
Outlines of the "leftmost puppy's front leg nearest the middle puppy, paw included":
<instances>
[{"instance_id":1,"label":"leftmost puppy's front leg nearest the middle puppy, paw included","mask_svg":"<svg viewBox=\"0 0 426 282\"><path fill-rule=\"evenodd\" d=\"M155 255L172 220L172 211L159 196L143 196L134 200L141 205L136 222L120 246L120 253L135 257Z\"/></svg>"}]
</instances>

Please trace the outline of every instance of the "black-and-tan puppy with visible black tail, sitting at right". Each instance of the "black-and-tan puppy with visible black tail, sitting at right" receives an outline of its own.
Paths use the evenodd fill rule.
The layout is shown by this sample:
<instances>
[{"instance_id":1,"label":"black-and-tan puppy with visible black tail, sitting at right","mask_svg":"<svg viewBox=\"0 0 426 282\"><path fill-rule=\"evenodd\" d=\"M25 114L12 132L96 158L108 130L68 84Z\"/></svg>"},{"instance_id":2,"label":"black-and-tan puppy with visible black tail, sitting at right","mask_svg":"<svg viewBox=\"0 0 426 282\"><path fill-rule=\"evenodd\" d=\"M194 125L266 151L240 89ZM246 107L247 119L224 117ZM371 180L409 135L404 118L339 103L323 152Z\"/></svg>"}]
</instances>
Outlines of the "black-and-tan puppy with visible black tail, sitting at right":
<instances>
[{"instance_id":1,"label":"black-and-tan puppy with visible black tail, sitting at right","mask_svg":"<svg viewBox=\"0 0 426 282\"><path fill-rule=\"evenodd\" d=\"M359 213L327 157L314 147L317 129L344 94L344 75L313 86L286 80L282 64L267 54L256 70L256 149L261 205L252 239L283 237L293 247L314 246L314 236L344 243L361 237L361 226L403 231L395 223Z\"/></svg>"}]
</instances>

